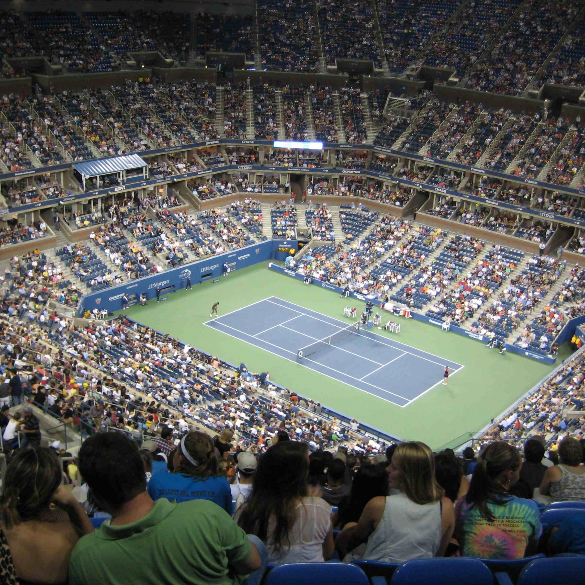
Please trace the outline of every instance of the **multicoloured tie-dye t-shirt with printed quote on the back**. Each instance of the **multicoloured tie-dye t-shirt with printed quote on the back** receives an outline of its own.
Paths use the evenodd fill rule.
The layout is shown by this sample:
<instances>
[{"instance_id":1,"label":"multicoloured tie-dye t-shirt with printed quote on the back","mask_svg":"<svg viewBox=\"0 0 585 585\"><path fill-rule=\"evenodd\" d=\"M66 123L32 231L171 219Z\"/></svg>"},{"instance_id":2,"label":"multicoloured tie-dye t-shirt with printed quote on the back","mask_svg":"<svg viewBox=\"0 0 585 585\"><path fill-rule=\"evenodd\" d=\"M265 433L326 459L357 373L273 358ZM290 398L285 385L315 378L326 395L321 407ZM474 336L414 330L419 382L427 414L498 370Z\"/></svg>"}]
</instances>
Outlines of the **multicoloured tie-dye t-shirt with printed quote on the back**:
<instances>
[{"instance_id":1,"label":"multicoloured tie-dye t-shirt with printed quote on the back","mask_svg":"<svg viewBox=\"0 0 585 585\"><path fill-rule=\"evenodd\" d=\"M534 500L506 498L504 505L488 503L494 521L462 497L455 507L455 538L463 556L482 559L521 559L528 539L542 534L541 514Z\"/></svg>"}]
</instances>

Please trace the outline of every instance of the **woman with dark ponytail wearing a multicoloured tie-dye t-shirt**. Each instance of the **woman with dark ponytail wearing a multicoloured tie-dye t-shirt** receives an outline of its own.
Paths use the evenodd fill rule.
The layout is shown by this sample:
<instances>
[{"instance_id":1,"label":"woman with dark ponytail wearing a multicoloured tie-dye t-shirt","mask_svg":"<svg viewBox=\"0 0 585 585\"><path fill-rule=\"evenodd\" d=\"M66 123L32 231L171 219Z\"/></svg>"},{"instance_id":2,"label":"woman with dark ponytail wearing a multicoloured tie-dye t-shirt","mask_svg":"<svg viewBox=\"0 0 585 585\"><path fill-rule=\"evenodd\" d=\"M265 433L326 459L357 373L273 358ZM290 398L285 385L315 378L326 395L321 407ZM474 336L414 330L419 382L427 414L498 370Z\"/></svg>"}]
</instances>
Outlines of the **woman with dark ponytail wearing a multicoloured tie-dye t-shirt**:
<instances>
[{"instance_id":1,"label":"woman with dark ponytail wearing a multicoloured tie-dye t-shirt","mask_svg":"<svg viewBox=\"0 0 585 585\"><path fill-rule=\"evenodd\" d=\"M494 442L473 470L469 491L455 507L455 538L464 556L521 559L541 536L541 516L534 500L511 495L522 459L508 443Z\"/></svg>"}]
</instances>

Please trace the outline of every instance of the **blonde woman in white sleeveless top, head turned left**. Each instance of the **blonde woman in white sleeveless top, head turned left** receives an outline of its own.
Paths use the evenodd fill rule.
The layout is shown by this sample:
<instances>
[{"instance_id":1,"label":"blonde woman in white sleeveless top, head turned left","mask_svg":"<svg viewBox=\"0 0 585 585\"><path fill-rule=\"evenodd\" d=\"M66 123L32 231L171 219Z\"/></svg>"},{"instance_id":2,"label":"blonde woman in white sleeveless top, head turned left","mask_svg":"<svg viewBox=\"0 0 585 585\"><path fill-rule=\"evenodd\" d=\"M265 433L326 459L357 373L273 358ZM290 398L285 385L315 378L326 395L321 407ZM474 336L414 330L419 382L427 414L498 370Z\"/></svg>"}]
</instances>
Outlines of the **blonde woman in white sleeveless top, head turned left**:
<instances>
[{"instance_id":1,"label":"blonde woman in white sleeveless top, head turned left","mask_svg":"<svg viewBox=\"0 0 585 585\"><path fill-rule=\"evenodd\" d=\"M362 558L384 563L443 556L455 526L452 502L435 479L435 460L424 443L398 445L389 467L398 494L372 498L356 526L336 540L340 556L366 542Z\"/></svg>"}]
</instances>

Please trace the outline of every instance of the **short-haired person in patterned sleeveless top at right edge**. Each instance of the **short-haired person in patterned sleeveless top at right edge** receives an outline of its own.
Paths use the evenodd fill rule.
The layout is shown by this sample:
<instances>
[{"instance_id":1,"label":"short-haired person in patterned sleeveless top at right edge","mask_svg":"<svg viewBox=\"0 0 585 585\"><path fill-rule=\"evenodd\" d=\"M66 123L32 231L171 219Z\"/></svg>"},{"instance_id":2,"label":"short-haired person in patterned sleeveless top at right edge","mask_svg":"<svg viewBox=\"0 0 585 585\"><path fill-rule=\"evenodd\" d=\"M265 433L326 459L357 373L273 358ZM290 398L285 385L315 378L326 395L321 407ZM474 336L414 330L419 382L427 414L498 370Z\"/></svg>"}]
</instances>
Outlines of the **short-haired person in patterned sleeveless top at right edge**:
<instances>
[{"instance_id":1,"label":"short-haired person in patterned sleeveless top at right edge","mask_svg":"<svg viewBox=\"0 0 585 585\"><path fill-rule=\"evenodd\" d=\"M560 442L560 463L548 467L541 483L541 494L555 501L585 502L585 467L581 465L583 448L577 439L567 437Z\"/></svg>"}]
</instances>

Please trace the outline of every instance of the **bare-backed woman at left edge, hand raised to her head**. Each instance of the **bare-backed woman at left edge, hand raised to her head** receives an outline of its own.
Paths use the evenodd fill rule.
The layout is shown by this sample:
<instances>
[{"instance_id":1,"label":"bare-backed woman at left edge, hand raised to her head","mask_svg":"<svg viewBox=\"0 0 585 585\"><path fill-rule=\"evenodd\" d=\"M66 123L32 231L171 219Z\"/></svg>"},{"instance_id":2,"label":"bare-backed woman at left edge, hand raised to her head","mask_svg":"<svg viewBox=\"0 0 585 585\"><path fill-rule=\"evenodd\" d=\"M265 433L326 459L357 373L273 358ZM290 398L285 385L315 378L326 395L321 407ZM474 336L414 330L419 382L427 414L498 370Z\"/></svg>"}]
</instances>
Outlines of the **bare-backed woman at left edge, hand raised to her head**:
<instances>
[{"instance_id":1,"label":"bare-backed woman at left edge, hand raised to her head","mask_svg":"<svg viewBox=\"0 0 585 585\"><path fill-rule=\"evenodd\" d=\"M71 491L61 486L61 462L51 449L18 452L0 499L0 583L67 583L71 552L94 531Z\"/></svg>"}]
</instances>

